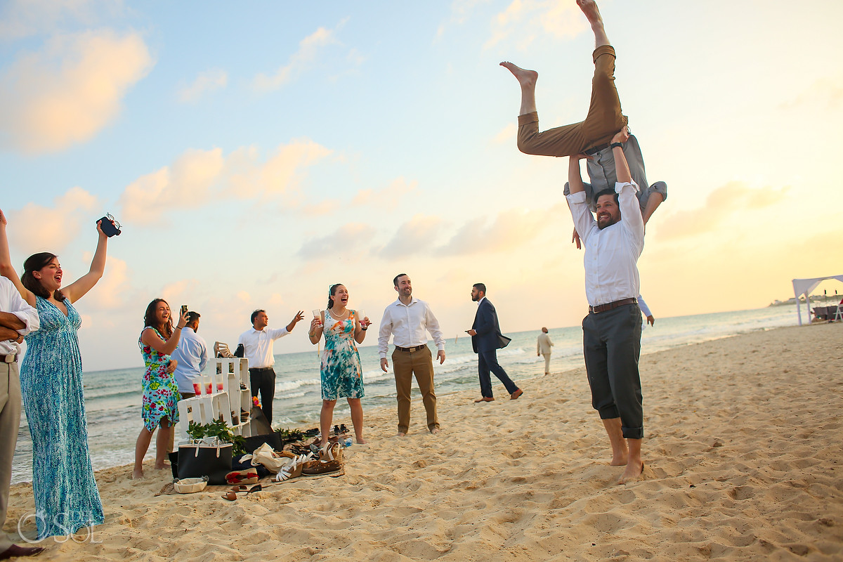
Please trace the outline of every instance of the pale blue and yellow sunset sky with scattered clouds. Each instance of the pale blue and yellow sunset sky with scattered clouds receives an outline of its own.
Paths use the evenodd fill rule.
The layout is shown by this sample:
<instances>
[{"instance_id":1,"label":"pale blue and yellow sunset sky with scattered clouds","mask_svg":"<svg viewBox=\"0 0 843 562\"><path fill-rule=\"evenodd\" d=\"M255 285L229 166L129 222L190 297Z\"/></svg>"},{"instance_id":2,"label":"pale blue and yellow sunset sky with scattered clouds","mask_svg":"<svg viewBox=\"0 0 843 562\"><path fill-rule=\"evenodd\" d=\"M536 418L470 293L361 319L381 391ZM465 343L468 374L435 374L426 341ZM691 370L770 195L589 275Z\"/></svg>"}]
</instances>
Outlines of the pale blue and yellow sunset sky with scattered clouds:
<instances>
[{"instance_id":1,"label":"pale blue and yellow sunset sky with scattered clouds","mask_svg":"<svg viewBox=\"0 0 843 562\"><path fill-rule=\"evenodd\" d=\"M657 317L763 307L794 277L840 274L843 4L600 7L648 179L668 184L639 261ZM141 365L153 297L231 344L255 308L287 324L336 282L377 324L399 272L448 337L470 327L478 281L505 332L576 325L567 161L518 153L520 94L498 62L540 72L545 128L583 119L592 49L573 0L8 0L13 260L55 252L72 281L96 219L122 223L78 305L86 370ZM310 349L305 332L276 351Z\"/></svg>"}]
</instances>

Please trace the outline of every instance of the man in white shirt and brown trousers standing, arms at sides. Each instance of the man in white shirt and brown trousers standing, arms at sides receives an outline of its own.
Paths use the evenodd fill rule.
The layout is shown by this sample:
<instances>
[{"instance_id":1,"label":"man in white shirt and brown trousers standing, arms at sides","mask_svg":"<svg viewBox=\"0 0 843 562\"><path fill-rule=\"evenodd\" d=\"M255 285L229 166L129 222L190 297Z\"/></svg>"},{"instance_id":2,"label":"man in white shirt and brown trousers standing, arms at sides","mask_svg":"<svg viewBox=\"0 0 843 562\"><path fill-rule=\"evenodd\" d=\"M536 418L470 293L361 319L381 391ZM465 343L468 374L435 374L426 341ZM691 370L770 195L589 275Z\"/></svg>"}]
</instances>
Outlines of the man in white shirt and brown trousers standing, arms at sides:
<instances>
[{"instance_id":1,"label":"man in white shirt and brown trousers standing, arms at sides","mask_svg":"<svg viewBox=\"0 0 843 562\"><path fill-rule=\"evenodd\" d=\"M445 361L445 338L427 302L412 297L410 276L405 273L398 274L393 280L393 285L398 292L398 300L384 310L378 334L378 351L380 368L386 372L389 367L386 352L389 349L389 335L392 335L392 343L395 344L392 368L395 372L395 391L398 399L398 436L405 436L410 429L410 391L414 373L421 391L421 401L427 412L427 429L431 433L438 433L436 393L433 391L433 358L430 348L427 347L425 331L430 332L436 344L436 356L440 365Z\"/></svg>"}]
</instances>

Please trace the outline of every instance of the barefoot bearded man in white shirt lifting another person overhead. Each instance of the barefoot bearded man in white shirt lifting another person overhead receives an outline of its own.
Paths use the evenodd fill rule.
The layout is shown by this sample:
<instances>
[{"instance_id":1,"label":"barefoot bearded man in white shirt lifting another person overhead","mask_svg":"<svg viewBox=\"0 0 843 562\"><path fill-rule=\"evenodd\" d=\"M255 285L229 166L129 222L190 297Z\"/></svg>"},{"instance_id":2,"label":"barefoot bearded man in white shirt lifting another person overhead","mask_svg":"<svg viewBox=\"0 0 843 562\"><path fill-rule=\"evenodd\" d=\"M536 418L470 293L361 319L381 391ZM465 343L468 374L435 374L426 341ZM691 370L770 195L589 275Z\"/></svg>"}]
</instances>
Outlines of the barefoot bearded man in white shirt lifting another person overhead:
<instances>
[{"instance_id":1,"label":"barefoot bearded man in white shirt lifting another person overhead","mask_svg":"<svg viewBox=\"0 0 843 562\"><path fill-rule=\"evenodd\" d=\"M588 316L583 319L583 355L592 406L603 420L612 447L612 466L626 465L620 483L641 477L644 436L641 378L641 309L638 257L644 249L644 219L624 158L626 127L612 139L618 181L615 190L596 195L597 221L588 210L579 161L568 166L568 206L585 244L585 292Z\"/></svg>"}]
</instances>

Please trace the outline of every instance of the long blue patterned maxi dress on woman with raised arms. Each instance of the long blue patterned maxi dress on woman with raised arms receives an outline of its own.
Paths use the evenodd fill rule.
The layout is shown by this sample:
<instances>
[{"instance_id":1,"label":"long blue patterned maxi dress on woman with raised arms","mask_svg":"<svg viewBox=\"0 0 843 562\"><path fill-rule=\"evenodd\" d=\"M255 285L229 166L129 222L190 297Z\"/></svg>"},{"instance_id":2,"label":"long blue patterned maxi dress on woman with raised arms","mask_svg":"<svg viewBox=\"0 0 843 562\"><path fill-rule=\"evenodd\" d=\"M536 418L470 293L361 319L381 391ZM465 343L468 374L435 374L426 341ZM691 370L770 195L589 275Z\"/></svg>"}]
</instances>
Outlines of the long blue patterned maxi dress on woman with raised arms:
<instances>
[{"instance_id":1,"label":"long blue patterned maxi dress on woman with raised arms","mask_svg":"<svg viewBox=\"0 0 843 562\"><path fill-rule=\"evenodd\" d=\"M82 318L69 300L65 316L52 302L35 298L41 327L26 335L20 388L32 436L38 538L46 538L101 524L103 506L88 452L76 337Z\"/></svg>"}]
</instances>

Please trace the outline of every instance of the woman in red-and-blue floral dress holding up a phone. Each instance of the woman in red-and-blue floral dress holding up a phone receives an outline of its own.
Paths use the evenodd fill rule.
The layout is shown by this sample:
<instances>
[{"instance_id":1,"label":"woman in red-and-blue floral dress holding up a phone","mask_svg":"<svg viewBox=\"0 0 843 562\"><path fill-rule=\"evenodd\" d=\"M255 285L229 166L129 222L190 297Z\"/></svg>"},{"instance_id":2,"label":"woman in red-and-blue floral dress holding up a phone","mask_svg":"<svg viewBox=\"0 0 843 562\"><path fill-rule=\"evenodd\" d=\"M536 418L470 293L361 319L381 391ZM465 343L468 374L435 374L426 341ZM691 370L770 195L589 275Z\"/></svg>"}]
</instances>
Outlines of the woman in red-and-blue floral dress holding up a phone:
<instances>
[{"instance_id":1,"label":"woman in red-and-blue floral dress holding up a phone","mask_svg":"<svg viewBox=\"0 0 843 562\"><path fill-rule=\"evenodd\" d=\"M143 457L147 454L153 433L160 427L155 440L155 468L166 468L167 453L173 447L173 426L179 420L179 385L173 371L175 361L169 354L179 345L181 329L187 324L187 313L179 318L173 329L169 304L163 298L149 303L143 317L143 331L137 345L141 347L143 363L142 411L143 429L135 444L133 479L143 478Z\"/></svg>"}]
</instances>

